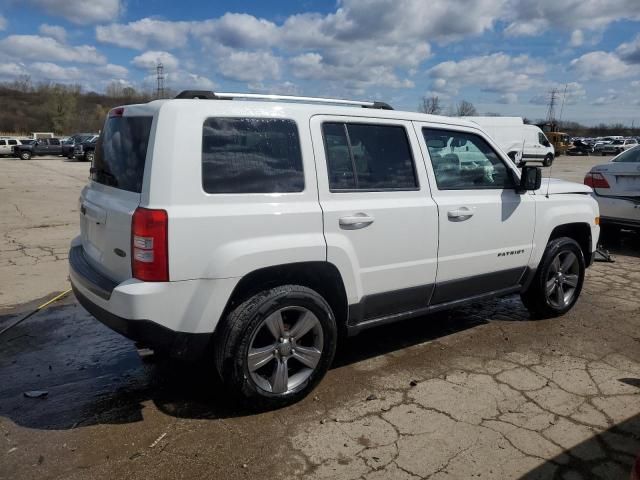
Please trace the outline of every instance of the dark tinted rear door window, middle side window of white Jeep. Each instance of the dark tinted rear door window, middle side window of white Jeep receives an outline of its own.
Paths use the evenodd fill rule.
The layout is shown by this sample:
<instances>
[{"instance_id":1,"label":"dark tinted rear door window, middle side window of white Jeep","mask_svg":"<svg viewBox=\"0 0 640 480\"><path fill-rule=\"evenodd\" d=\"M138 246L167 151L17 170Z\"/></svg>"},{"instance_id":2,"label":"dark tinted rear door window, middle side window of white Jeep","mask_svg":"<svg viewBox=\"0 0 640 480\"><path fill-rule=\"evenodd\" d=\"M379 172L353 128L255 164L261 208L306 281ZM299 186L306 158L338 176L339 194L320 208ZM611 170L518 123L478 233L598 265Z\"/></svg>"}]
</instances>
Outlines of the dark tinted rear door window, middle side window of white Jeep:
<instances>
[{"instance_id":1,"label":"dark tinted rear door window, middle side window of white Jeep","mask_svg":"<svg viewBox=\"0 0 640 480\"><path fill-rule=\"evenodd\" d=\"M325 123L322 130L331 190L417 188L404 127Z\"/></svg>"}]
</instances>

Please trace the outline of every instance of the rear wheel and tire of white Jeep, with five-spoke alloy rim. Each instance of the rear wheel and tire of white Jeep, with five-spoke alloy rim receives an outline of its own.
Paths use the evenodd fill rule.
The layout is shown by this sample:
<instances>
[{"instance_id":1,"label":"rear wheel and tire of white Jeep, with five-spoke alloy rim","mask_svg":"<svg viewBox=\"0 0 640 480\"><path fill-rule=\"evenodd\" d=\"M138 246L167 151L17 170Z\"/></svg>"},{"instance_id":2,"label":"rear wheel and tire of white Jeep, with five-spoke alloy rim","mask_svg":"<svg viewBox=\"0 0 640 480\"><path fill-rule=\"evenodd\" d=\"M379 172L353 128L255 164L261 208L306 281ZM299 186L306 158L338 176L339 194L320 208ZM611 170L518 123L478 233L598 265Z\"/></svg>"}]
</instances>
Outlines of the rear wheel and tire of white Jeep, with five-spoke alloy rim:
<instances>
[{"instance_id":1,"label":"rear wheel and tire of white Jeep, with five-spoke alloy rim","mask_svg":"<svg viewBox=\"0 0 640 480\"><path fill-rule=\"evenodd\" d=\"M331 307L318 293L298 285L275 287L238 305L220 325L214 338L216 369L250 408L279 408L304 398L324 377L337 338Z\"/></svg>"}]
</instances>

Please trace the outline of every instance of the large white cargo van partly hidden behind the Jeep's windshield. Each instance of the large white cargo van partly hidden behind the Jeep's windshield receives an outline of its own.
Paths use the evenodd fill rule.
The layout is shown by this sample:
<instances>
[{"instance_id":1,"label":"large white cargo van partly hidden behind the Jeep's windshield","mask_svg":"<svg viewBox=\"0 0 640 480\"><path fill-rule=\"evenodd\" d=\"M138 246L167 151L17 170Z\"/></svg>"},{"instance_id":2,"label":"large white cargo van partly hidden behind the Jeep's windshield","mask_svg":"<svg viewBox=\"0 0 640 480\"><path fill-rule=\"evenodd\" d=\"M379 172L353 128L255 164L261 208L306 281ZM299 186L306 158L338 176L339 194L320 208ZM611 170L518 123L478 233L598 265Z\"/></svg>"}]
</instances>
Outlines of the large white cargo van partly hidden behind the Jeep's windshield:
<instances>
[{"instance_id":1,"label":"large white cargo van partly hidden behind the Jeep's windshield","mask_svg":"<svg viewBox=\"0 0 640 480\"><path fill-rule=\"evenodd\" d=\"M545 134L535 125L528 125L521 117L465 117L484 128L516 162L553 163L555 150Z\"/></svg>"}]
</instances>

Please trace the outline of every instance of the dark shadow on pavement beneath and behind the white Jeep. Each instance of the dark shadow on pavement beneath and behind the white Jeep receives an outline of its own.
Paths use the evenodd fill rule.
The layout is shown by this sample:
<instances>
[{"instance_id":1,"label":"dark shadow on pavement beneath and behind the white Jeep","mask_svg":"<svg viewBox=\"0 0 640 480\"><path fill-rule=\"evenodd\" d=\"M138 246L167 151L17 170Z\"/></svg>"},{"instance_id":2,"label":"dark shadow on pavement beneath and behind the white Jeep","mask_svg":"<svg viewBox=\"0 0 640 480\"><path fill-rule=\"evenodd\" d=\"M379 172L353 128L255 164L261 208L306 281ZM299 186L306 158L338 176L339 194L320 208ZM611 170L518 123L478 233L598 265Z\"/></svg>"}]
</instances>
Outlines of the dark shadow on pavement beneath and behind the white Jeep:
<instances>
[{"instance_id":1,"label":"dark shadow on pavement beneath and behind the white Jeep","mask_svg":"<svg viewBox=\"0 0 640 480\"><path fill-rule=\"evenodd\" d=\"M333 368L384 355L486 323L486 309L517 298L454 310L363 332L342 342ZM520 304L520 308L522 306ZM491 311L498 311L491 309ZM522 309L523 315L526 315ZM5 315L0 326L17 316ZM155 355L140 357L135 345L93 319L70 299L19 324L0 339L0 416L28 428L57 430L142 420L152 401L177 418L251 415L224 391L206 363L181 364ZM24 392L46 391L44 399Z\"/></svg>"}]
</instances>

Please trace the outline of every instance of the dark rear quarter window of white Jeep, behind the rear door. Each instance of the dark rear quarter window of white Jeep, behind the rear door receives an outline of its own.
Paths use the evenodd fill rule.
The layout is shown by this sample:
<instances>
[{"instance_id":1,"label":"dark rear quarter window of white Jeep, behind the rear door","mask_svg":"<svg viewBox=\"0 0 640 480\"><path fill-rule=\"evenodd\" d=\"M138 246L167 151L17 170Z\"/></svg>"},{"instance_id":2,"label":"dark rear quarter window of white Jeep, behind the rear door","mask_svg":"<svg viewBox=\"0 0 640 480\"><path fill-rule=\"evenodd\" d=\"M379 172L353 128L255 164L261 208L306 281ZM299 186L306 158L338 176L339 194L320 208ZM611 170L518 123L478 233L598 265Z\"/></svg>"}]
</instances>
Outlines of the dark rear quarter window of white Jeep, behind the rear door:
<instances>
[{"instance_id":1,"label":"dark rear quarter window of white Jeep, behind the rear door","mask_svg":"<svg viewBox=\"0 0 640 480\"><path fill-rule=\"evenodd\" d=\"M293 120L208 118L202 131L202 188L207 193L304 190Z\"/></svg>"}]
</instances>

